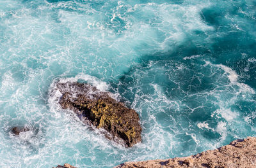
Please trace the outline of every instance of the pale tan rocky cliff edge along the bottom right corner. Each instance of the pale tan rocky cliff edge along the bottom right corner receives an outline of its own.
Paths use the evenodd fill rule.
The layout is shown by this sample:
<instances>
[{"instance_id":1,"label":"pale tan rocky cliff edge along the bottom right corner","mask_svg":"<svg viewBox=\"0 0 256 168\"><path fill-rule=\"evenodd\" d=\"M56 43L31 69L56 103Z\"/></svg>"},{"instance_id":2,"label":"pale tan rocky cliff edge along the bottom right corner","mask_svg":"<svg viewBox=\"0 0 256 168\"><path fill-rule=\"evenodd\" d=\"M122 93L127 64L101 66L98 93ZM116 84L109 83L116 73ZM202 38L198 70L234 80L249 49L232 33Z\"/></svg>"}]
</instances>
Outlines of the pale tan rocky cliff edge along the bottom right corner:
<instances>
[{"instance_id":1,"label":"pale tan rocky cliff edge along the bottom right corner","mask_svg":"<svg viewBox=\"0 0 256 168\"><path fill-rule=\"evenodd\" d=\"M216 150L197 155L165 160L125 162L114 168L163 168L163 167L204 167L204 168L245 168L256 167L256 137L239 139Z\"/></svg>"}]
</instances>

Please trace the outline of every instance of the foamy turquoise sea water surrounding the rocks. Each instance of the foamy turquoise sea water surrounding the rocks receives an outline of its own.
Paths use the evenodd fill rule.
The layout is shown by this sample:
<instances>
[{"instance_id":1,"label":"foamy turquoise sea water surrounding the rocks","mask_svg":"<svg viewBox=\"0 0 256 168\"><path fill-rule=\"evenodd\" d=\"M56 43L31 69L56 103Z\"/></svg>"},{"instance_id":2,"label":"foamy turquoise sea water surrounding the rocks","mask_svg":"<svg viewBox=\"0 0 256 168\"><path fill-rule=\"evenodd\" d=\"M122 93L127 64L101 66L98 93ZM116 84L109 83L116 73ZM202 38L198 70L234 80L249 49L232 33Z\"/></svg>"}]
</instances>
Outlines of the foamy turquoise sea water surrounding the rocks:
<instances>
[{"instance_id":1,"label":"foamy turquoise sea water surrounding the rocks","mask_svg":"<svg viewBox=\"0 0 256 168\"><path fill-rule=\"evenodd\" d=\"M253 0L1 0L0 167L113 167L256 136L255 25ZM142 143L113 144L61 110L56 80L125 101Z\"/></svg>"}]
</instances>

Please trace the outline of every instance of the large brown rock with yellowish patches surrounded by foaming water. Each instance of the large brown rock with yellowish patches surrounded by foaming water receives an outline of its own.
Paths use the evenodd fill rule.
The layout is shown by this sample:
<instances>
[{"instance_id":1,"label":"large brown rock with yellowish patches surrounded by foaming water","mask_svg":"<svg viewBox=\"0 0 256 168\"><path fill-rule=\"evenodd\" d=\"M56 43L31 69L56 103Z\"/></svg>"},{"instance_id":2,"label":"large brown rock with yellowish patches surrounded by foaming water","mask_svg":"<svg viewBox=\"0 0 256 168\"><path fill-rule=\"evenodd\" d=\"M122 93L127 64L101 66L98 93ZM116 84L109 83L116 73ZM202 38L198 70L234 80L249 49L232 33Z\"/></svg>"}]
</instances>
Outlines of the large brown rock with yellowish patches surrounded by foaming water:
<instances>
[{"instance_id":1,"label":"large brown rock with yellowish patches surrounded by foaming water","mask_svg":"<svg viewBox=\"0 0 256 168\"><path fill-rule=\"evenodd\" d=\"M101 92L86 83L57 83L61 92L60 105L71 109L87 125L107 130L106 137L125 146L141 141L140 118L134 109L129 109L111 98L108 92Z\"/></svg>"}]
</instances>

